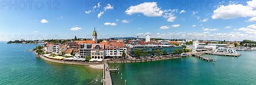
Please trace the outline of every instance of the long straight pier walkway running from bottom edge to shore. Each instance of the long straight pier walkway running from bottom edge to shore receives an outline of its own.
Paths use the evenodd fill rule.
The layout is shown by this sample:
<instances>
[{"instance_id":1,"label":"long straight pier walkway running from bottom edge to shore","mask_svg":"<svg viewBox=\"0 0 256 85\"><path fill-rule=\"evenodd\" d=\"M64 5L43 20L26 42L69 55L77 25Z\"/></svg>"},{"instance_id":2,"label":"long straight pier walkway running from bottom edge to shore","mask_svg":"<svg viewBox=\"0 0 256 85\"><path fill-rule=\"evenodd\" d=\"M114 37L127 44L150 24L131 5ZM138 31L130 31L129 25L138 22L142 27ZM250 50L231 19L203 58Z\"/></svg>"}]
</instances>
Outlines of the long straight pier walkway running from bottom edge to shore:
<instances>
[{"instance_id":1,"label":"long straight pier walkway running from bottom edge to shore","mask_svg":"<svg viewBox=\"0 0 256 85\"><path fill-rule=\"evenodd\" d=\"M110 71L116 71L117 69L109 69L108 61L105 61L103 70L103 85L113 85Z\"/></svg>"}]
</instances>

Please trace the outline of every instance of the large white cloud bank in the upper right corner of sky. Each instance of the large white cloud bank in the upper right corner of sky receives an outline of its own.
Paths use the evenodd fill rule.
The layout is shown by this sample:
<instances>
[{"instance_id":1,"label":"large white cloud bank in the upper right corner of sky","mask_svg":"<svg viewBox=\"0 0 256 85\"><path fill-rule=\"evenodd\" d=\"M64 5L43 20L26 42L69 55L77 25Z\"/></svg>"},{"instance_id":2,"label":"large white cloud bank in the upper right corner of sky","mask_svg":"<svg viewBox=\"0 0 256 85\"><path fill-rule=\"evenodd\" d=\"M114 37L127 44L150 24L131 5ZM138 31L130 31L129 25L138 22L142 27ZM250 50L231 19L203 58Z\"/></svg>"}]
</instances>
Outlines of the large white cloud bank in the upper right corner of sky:
<instances>
[{"instance_id":1,"label":"large white cloud bank in the upper right corner of sky","mask_svg":"<svg viewBox=\"0 0 256 85\"><path fill-rule=\"evenodd\" d=\"M249 5L249 4L248 4ZM251 5L251 4L250 4ZM213 11L212 19L232 19L237 17L255 17L256 11L242 4L221 5Z\"/></svg>"}]
</instances>

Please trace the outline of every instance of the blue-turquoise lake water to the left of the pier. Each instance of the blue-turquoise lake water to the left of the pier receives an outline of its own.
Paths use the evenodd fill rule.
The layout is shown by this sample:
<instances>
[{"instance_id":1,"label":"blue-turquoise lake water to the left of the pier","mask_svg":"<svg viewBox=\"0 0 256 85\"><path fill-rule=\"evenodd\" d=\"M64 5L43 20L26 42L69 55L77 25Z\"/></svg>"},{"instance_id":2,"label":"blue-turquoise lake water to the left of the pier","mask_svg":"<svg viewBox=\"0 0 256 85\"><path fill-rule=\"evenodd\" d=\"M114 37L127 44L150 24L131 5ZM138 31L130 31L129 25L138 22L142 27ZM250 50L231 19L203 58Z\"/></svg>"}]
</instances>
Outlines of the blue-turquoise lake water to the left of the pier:
<instances>
[{"instance_id":1,"label":"blue-turquoise lake water to the left of the pier","mask_svg":"<svg viewBox=\"0 0 256 85\"><path fill-rule=\"evenodd\" d=\"M0 44L0 85L102 85L102 70L45 61L36 46Z\"/></svg>"}]
</instances>

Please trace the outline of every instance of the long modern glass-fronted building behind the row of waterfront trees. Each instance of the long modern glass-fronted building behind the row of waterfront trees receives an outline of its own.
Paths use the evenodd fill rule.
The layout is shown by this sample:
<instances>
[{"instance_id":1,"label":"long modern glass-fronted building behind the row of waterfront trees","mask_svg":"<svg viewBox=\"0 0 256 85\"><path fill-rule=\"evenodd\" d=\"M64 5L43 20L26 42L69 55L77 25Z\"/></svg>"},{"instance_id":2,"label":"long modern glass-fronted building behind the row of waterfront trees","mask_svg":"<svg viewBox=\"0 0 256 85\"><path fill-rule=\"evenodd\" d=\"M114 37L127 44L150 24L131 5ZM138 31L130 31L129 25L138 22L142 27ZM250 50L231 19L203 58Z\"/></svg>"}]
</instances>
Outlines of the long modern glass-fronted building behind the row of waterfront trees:
<instances>
[{"instance_id":1,"label":"long modern glass-fronted building behind the row of waterfront trees","mask_svg":"<svg viewBox=\"0 0 256 85\"><path fill-rule=\"evenodd\" d=\"M175 45L129 45L127 47L127 55L130 57L135 57L134 53L136 49L140 49L141 54L143 54L144 51L147 52L147 56L151 56L151 51L154 51L154 55L157 54L157 50L159 49L162 53L165 50L166 54L175 54L175 49L177 51L182 51L183 47L182 46L175 46Z\"/></svg>"}]
</instances>

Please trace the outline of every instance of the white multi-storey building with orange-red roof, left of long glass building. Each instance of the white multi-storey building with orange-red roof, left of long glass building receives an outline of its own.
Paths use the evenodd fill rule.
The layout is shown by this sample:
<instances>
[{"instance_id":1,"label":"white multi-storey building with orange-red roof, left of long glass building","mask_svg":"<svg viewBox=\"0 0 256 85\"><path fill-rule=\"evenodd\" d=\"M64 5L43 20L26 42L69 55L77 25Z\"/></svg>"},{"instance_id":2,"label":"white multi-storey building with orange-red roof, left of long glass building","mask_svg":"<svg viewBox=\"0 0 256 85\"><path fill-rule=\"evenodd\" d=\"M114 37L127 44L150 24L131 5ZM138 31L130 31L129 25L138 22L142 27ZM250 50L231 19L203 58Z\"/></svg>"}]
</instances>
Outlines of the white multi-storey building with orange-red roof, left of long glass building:
<instances>
[{"instance_id":1,"label":"white multi-storey building with orange-red roof, left of long glass building","mask_svg":"<svg viewBox=\"0 0 256 85\"><path fill-rule=\"evenodd\" d=\"M123 40L103 40L100 42L105 45L106 57L122 57L123 51L127 54L127 48Z\"/></svg>"}]
</instances>

